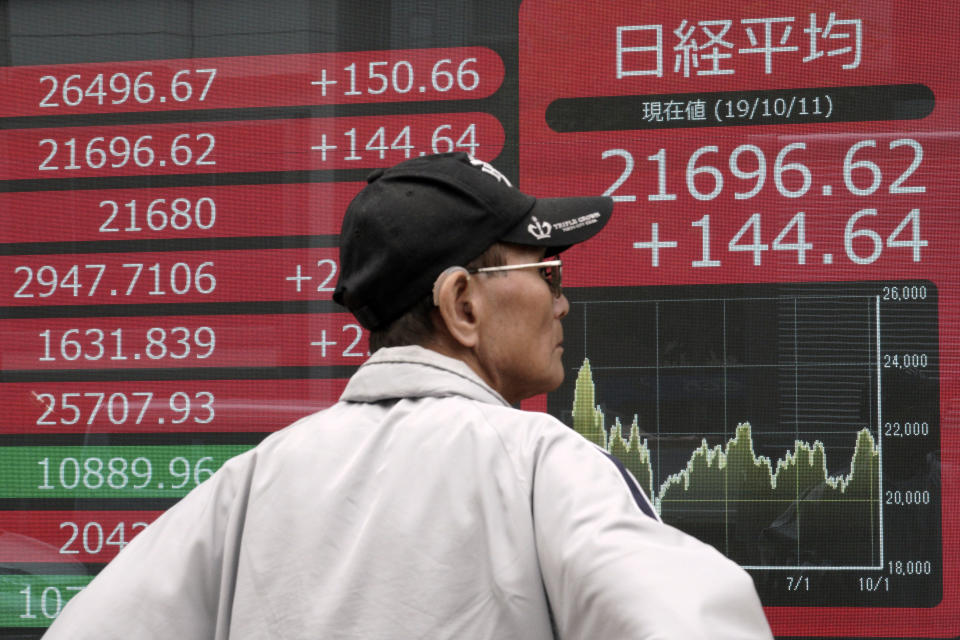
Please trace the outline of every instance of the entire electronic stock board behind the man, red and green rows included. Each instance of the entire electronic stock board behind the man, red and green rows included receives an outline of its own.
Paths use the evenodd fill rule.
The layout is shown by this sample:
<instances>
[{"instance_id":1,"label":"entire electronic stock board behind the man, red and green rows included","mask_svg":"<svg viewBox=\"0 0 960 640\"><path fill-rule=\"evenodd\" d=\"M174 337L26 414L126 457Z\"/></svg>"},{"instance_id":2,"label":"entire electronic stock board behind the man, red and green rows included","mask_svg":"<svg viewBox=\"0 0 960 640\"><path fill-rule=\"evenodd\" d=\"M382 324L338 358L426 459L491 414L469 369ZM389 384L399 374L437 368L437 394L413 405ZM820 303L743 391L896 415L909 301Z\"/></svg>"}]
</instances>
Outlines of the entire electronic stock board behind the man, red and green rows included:
<instances>
[{"instance_id":1,"label":"entire electronic stock board behind the man, red and green rows included","mask_svg":"<svg viewBox=\"0 0 960 640\"><path fill-rule=\"evenodd\" d=\"M0 30L0 637L337 401L369 355L344 209L445 151L615 201L523 408L743 566L778 638L960 637L954 3L191 4Z\"/></svg>"}]
</instances>

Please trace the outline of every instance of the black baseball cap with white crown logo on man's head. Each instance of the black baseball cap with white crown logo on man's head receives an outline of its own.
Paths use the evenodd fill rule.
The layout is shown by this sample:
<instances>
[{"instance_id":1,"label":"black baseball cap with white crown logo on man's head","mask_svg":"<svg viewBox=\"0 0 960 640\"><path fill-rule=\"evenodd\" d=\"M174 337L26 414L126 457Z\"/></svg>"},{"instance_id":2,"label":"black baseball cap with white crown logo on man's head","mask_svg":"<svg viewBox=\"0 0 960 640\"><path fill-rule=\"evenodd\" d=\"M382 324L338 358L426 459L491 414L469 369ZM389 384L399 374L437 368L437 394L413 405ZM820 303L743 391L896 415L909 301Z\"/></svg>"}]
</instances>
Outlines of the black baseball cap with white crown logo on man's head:
<instances>
[{"instance_id":1,"label":"black baseball cap with white crown logo on man's head","mask_svg":"<svg viewBox=\"0 0 960 640\"><path fill-rule=\"evenodd\" d=\"M378 169L367 183L343 218L333 299L371 330L428 295L444 269L496 242L555 255L595 235L613 212L608 197L534 198L462 152Z\"/></svg>"}]
</instances>

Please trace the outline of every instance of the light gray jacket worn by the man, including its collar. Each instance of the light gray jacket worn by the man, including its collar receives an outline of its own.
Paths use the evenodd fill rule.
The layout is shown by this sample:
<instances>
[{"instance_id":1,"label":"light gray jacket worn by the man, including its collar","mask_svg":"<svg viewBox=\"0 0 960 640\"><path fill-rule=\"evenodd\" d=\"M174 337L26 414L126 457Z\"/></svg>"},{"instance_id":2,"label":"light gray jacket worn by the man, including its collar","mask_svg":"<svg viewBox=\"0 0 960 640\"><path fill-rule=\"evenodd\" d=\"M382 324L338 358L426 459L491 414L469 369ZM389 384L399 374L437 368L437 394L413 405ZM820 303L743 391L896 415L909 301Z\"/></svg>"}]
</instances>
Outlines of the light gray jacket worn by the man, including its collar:
<instances>
[{"instance_id":1,"label":"light gray jacket worn by the man, including its collar","mask_svg":"<svg viewBox=\"0 0 960 640\"><path fill-rule=\"evenodd\" d=\"M141 532L51 640L770 638L750 577L464 363L382 349Z\"/></svg>"}]
</instances>

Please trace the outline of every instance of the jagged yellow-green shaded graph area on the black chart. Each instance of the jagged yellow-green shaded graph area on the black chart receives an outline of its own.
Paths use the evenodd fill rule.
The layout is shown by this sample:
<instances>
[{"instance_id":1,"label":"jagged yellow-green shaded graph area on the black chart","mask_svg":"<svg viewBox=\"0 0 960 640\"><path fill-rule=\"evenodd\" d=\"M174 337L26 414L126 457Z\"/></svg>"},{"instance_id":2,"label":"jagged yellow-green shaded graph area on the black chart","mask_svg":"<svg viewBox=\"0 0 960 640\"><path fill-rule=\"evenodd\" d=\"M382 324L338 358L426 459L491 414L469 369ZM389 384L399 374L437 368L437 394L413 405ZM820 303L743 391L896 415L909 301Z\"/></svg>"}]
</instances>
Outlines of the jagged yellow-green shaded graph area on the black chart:
<instances>
[{"instance_id":1,"label":"jagged yellow-green shaded graph area on the black chart","mask_svg":"<svg viewBox=\"0 0 960 640\"><path fill-rule=\"evenodd\" d=\"M743 422L724 444L713 447L706 438L686 466L654 486L649 438L641 436L638 419L624 429L619 418L607 418L597 404L589 359L574 388L573 427L588 440L618 458L637 478L657 512L667 523L684 508L713 507L735 513L740 531L760 539L775 523L789 518L800 541L819 534L831 523L838 537L876 540L879 530L880 450L869 429L856 433L849 472L831 475L824 445L795 440L792 450L774 461L757 455L752 427ZM799 542L798 542L799 544Z\"/></svg>"}]
</instances>

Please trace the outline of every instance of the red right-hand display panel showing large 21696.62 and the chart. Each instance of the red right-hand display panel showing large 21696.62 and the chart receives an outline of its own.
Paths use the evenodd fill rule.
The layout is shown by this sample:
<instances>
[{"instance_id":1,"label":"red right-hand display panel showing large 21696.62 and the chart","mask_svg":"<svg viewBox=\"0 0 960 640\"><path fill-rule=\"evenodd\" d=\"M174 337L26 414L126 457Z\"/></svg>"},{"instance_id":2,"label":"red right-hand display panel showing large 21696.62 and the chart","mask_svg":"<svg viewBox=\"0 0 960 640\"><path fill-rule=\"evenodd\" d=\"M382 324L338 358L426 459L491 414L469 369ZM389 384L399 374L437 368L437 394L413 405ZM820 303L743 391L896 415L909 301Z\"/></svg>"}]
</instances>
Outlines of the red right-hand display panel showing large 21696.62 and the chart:
<instances>
[{"instance_id":1,"label":"red right-hand display panel showing large 21696.62 and the chart","mask_svg":"<svg viewBox=\"0 0 960 640\"><path fill-rule=\"evenodd\" d=\"M590 437L589 391L598 442L747 568L777 635L960 629L958 16L520 10L523 186L616 201L567 255L548 409Z\"/></svg>"}]
</instances>

